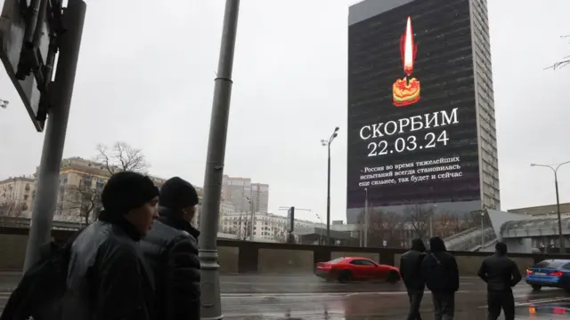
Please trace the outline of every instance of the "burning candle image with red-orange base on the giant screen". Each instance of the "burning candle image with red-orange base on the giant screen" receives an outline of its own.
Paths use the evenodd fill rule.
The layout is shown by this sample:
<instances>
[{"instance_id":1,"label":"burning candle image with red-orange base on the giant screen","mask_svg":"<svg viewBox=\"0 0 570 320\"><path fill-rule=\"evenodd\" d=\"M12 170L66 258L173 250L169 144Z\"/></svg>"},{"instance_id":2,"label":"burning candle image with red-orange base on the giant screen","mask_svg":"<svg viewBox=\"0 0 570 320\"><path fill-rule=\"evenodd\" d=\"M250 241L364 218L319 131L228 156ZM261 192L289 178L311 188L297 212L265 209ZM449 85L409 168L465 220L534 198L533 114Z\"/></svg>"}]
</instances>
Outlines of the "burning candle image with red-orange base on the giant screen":
<instances>
[{"instance_id":1,"label":"burning candle image with red-orange base on the giant screen","mask_svg":"<svg viewBox=\"0 0 570 320\"><path fill-rule=\"evenodd\" d=\"M413 31L411 29L411 17L408 17L406 29L400 37L400 54L402 56L403 72L406 76L397 79L392 85L394 105L396 107L409 106L419 101L419 81L411 76L413 62L416 60L418 44L413 42Z\"/></svg>"}]
</instances>

